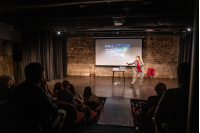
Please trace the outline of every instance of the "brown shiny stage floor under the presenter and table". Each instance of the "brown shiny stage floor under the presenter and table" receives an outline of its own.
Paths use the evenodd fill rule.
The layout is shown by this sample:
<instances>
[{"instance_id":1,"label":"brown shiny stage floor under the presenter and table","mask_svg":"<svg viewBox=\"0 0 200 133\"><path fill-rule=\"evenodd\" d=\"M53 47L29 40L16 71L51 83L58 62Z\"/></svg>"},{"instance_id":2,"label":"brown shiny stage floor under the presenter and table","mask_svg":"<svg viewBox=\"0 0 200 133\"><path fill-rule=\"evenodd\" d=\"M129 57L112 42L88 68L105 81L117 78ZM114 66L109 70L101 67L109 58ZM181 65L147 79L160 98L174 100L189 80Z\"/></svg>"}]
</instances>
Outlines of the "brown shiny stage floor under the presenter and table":
<instances>
[{"instance_id":1,"label":"brown shiny stage floor under the presenter and table","mask_svg":"<svg viewBox=\"0 0 200 133\"><path fill-rule=\"evenodd\" d=\"M137 78L133 86L130 85L132 78L126 78L125 84L112 84L112 77L96 77L94 78L86 76L67 76L63 79L55 79L52 82L48 82L49 88L53 90L56 82L62 82L63 80L68 80L74 85L75 90L83 94L84 88L90 86L92 88L93 94L99 97L113 97L113 98L129 98L129 99L147 99L149 96L156 95L154 87L157 83L166 84L167 88L176 88L177 79L154 79L154 82L149 79L143 80L142 87L139 85L139 78ZM122 77L115 77L114 83L120 82L124 83Z\"/></svg>"}]
</instances>

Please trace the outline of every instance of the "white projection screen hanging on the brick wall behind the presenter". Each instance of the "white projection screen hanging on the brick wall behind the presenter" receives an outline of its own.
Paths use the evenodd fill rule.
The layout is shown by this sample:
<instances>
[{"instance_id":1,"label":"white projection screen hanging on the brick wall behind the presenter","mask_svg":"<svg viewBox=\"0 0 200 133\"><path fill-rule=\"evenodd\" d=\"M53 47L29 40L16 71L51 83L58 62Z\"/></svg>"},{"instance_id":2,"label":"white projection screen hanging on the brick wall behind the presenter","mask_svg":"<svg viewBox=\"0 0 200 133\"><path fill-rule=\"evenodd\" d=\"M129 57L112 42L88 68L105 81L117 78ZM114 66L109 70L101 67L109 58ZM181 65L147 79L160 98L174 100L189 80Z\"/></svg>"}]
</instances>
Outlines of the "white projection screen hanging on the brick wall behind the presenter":
<instances>
[{"instance_id":1,"label":"white projection screen hanging on the brick wall behind the presenter","mask_svg":"<svg viewBox=\"0 0 200 133\"><path fill-rule=\"evenodd\" d=\"M95 39L97 66L127 66L137 55L142 57L142 39Z\"/></svg>"}]
</instances>

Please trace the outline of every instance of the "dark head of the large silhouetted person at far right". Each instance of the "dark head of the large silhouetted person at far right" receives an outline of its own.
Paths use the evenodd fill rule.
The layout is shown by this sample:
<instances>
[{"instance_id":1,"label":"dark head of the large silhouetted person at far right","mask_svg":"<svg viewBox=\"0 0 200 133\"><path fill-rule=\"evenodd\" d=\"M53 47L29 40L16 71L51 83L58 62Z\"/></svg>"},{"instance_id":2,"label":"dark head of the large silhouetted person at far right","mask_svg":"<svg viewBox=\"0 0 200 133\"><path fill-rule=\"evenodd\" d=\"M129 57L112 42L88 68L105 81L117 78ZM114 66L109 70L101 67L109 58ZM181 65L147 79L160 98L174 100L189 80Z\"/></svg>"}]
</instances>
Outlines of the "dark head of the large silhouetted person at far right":
<instances>
[{"instance_id":1,"label":"dark head of the large silhouetted person at far right","mask_svg":"<svg viewBox=\"0 0 200 133\"><path fill-rule=\"evenodd\" d=\"M191 63L184 62L180 63L177 67L177 82L178 85L183 83L190 83L190 69Z\"/></svg>"}]
</instances>

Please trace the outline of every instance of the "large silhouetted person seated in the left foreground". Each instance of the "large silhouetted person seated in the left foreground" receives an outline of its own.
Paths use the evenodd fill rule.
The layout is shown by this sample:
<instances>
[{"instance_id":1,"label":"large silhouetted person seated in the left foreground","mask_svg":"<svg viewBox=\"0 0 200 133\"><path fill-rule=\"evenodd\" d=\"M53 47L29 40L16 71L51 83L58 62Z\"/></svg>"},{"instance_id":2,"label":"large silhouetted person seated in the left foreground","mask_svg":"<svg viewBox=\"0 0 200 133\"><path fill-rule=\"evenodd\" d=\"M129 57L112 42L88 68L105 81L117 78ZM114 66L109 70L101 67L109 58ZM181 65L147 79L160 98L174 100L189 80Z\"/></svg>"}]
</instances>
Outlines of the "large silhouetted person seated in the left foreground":
<instances>
[{"instance_id":1,"label":"large silhouetted person seated in the left foreground","mask_svg":"<svg viewBox=\"0 0 200 133\"><path fill-rule=\"evenodd\" d=\"M11 126L8 129L25 130L23 128L26 126L23 124L27 120L36 120L42 129L51 129L56 123L59 123L58 112L64 116L66 112L64 110L58 111L54 99L40 87L44 79L44 68L40 63L30 63L25 67L25 77L25 83L15 87L12 98L8 101L8 110L11 112L9 117L11 117L10 114L13 116L10 121L9 118L6 118L8 121L6 126ZM54 124L52 124L53 121Z\"/></svg>"}]
</instances>

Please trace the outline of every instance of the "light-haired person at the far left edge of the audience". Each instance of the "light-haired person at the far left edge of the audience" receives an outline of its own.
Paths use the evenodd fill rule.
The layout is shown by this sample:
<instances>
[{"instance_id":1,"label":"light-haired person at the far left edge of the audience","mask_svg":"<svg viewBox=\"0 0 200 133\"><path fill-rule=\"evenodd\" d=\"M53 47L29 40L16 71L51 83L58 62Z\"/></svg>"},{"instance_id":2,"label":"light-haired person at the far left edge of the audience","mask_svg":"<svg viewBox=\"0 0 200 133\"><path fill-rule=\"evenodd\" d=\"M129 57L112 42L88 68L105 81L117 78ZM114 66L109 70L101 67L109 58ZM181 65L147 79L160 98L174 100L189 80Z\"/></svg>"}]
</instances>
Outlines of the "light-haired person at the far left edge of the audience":
<instances>
[{"instance_id":1,"label":"light-haired person at the far left edge of the audience","mask_svg":"<svg viewBox=\"0 0 200 133\"><path fill-rule=\"evenodd\" d=\"M0 76L0 101L8 100L14 90L15 80L11 75Z\"/></svg>"}]
</instances>

